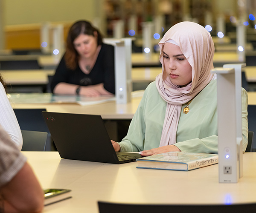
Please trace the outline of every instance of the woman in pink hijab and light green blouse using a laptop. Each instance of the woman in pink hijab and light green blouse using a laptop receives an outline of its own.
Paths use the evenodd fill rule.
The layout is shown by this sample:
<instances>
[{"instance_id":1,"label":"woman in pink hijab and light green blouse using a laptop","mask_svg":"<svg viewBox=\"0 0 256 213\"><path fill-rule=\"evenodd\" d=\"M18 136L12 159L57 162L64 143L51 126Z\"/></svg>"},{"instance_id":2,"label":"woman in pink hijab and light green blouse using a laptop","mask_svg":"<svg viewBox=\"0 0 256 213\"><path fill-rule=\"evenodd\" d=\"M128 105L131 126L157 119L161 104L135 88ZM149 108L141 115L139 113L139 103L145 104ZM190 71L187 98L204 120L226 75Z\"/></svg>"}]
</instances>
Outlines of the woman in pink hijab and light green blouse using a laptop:
<instances>
[{"instance_id":1,"label":"woman in pink hijab and light green blouse using a laptop","mask_svg":"<svg viewBox=\"0 0 256 213\"><path fill-rule=\"evenodd\" d=\"M218 153L214 43L203 26L181 22L159 43L163 72L146 89L128 134L116 151L142 156L170 151ZM247 147L247 92L242 89L243 150Z\"/></svg>"}]
</instances>

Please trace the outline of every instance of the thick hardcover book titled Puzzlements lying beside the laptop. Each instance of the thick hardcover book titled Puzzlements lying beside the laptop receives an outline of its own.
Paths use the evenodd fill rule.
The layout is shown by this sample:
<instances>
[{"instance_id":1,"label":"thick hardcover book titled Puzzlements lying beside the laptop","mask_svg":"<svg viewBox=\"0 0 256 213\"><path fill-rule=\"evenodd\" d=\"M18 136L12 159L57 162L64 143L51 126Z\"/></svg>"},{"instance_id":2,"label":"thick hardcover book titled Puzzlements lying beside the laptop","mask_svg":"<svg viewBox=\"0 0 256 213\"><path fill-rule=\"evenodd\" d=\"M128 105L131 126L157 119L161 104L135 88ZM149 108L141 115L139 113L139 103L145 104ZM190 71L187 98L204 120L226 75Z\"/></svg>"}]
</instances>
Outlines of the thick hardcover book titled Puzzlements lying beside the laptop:
<instances>
[{"instance_id":1,"label":"thick hardcover book titled Puzzlements lying beside the laptop","mask_svg":"<svg viewBox=\"0 0 256 213\"><path fill-rule=\"evenodd\" d=\"M137 159L137 168L189 171L218 163L217 154L169 152Z\"/></svg>"}]
</instances>

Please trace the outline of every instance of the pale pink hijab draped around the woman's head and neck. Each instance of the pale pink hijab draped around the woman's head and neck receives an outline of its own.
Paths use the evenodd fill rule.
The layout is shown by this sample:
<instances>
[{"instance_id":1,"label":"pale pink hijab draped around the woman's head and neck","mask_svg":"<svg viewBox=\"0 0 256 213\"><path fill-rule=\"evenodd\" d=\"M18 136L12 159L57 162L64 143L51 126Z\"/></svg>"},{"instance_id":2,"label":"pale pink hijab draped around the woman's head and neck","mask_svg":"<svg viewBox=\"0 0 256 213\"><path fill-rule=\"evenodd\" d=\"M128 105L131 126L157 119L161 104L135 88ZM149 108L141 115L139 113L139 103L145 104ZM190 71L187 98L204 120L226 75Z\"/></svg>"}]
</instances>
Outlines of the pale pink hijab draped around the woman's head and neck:
<instances>
[{"instance_id":1,"label":"pale pink hijab draped around the woman's head and neck","mask_svg":"<svg viewBox=\"0 0 256 213\"><path fill-rule=\"evenodd\" d=\"M174 42L173 42L174 41ZM163 66L163 45L176 43L192 66L192 83L185 87L163 81L163 73L156 77L156 86L161 97L167 102L160 147L176 143L176 132L182 104L194 98L212 80L214 43L210 33L203 26L193 22L180 22L172 26L158 43L159 60Z\"/></svg>"}]
</instances>

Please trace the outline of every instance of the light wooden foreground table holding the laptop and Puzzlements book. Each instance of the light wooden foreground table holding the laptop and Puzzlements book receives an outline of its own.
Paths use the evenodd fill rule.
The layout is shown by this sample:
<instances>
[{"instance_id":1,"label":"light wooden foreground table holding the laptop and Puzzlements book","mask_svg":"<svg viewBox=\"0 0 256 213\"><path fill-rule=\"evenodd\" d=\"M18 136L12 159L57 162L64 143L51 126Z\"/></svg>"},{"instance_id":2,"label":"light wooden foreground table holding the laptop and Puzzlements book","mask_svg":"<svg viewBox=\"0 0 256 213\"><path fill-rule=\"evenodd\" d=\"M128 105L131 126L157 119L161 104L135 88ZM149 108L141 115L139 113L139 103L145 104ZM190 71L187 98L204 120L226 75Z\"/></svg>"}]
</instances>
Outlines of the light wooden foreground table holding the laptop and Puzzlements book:
<instances>
[{"instance_id":1,"label":"light wooden foreground table holding the laptop and Puzzlements book","mask_svg":"<svg viewBox=\"0 0 256 213\"><path fill-rule=\"evenodd\" d=\"M61 159L57 152L23 152L43 188L67 188L73 198L47 213L98 213L97 201L138 204L256 202L256 153L245 153L238 183L218 183L218 164L191 171L137 169L137 162L105 164Z\"/></svg>"}]
</instances>

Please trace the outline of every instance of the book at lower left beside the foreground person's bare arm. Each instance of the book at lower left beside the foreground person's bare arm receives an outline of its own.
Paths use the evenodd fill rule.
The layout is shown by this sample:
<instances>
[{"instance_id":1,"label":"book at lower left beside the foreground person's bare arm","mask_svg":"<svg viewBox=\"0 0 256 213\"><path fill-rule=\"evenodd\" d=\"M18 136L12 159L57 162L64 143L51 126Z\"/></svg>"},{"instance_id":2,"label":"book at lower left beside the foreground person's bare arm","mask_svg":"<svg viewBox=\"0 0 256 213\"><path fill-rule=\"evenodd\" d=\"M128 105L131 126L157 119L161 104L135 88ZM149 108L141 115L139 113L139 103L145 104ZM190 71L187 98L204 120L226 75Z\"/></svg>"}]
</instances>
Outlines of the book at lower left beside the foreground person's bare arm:
<instances>
[{"instance_id":1,"label":"book at lower left beside the foreground person's bare arm","mask_svg":"<svg viewBox=\"0 0 256 213\"><path fill-rule=\"evenodd\" d=\"M44 190L44 206L72 198L69 189L46 189Z\"/></svg>"}]
</instances>

